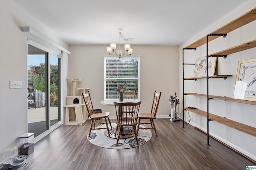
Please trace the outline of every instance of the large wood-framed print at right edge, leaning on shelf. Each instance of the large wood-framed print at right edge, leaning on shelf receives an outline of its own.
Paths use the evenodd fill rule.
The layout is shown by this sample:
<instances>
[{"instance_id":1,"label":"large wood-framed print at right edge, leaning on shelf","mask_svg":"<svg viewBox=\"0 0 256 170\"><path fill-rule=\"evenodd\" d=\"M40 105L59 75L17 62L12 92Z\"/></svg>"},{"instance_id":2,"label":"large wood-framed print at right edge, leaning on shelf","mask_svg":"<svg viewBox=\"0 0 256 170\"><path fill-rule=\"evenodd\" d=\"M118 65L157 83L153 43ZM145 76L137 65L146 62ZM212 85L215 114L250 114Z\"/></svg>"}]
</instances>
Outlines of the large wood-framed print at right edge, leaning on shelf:
<instances>
[{"instance_id":1,"label":"large wood-framed print at right edge, leaning on shelf","mask_svg":"<svg viewBox=\"0 0 256 170\"><path fill-rule=\"evenodd\" d=\"M256 101L256 58L238 62L233 98Z\"/></svg>"}]
</instances>

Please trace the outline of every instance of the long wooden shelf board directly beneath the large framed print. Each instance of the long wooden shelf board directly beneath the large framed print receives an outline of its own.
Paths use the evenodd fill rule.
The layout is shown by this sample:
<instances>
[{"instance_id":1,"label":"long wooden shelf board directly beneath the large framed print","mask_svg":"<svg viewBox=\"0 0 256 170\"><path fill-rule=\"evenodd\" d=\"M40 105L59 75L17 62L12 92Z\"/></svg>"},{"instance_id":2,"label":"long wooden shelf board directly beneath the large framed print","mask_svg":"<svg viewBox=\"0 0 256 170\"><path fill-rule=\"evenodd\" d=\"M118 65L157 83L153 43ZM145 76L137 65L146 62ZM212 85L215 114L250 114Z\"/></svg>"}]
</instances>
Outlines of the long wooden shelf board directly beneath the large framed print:
<instances>
[{"instance_id":1,"label":"long wooden shelf board directly beneath the large framed print","mask_svg":"<svg viewBox=\"0 0 256 170\"><path fill-rule=\"evenodd\" d=\"M198 96L198 97L203 97L206 98L206 94L198 94L198 93L184 93L185 95L191 95L191 96ZM225 101L230 101L230 102L237 102L237 103L243 103L243 104L250 104L250 105L256 105L255 101L249 101L249 100L240 100L240 99L234 99L234 98L229 98L229 97L222 97L222 96L213 96L209 95L210 99L217 99L217 100L225 100Z\"/></svg>"}]
</instances>

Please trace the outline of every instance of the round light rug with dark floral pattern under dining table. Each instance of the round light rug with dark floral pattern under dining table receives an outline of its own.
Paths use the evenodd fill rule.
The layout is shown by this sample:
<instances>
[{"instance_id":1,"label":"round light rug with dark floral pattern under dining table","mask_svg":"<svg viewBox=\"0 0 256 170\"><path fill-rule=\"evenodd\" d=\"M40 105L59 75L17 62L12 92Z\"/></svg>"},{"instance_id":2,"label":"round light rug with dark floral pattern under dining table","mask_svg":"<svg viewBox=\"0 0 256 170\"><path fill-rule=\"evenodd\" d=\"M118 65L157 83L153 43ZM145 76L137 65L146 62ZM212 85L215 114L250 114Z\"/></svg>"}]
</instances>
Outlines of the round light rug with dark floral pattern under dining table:
<instances>
[{"instance_id":1,"label":"round light rug with dark floral pattern under dining table","mask_svg":"<svg viewBox=\"0 0 256 170\"><path fill-rule=\"evenodd\" d=\"M111 123L112 127L116 127L116 123ZM102 125L102 127L106 127L106 125ZM109 130L110 126L108 125ZM140 126L142 127L142 126ZM152 133L149 129L140 129L138 133L138 142L139 145L137 145L135 137L129 137L126 139L119 139L118 146L116 147L116 139L111 138L105 135L106 129L100 129L100 130L92 130L90 137L88 137L89 133L87 134L87 139L90 141L90 143L103 147L108 149L128 149L128 148L134 148L143 145L144 143L148 142L151 137ZM111 130L110 130L111 131Z\"/></svg>"}]
</instances>

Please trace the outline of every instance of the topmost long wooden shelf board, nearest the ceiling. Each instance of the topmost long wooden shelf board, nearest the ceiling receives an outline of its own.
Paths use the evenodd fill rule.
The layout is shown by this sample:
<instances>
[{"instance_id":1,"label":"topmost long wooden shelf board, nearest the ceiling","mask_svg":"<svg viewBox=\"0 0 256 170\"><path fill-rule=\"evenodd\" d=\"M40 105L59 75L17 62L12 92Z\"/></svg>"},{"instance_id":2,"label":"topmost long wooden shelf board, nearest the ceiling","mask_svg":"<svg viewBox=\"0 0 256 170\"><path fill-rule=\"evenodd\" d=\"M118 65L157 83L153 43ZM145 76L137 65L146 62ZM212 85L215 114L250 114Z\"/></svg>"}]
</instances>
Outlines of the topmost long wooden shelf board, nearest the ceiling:
<instances>
[{"instance_id":1,"label":"topmost long wooden shelf board, nearest the ceiling","mask_svg":"<svg viewBox=\"0 0 256 170\"><path fill-rule=\"evenodd\" d=\"M235 29L242 27L243 25L246 25L247 23L250 23L254 20L256 20L256 8L250 10L249 12L236 18L235 20L230 21L226 25L220 27L219 29L216 29L215 31L213 31L210 34L226 34L231 31L234 31ZM218 36L209 36L208 42L210 42L216 38L218 38ZM205 43L206 43L206 36L202 37L201 39L198 39L197 41L188 45L185 48L197 48Z\"/></svg>"}]
</instances>

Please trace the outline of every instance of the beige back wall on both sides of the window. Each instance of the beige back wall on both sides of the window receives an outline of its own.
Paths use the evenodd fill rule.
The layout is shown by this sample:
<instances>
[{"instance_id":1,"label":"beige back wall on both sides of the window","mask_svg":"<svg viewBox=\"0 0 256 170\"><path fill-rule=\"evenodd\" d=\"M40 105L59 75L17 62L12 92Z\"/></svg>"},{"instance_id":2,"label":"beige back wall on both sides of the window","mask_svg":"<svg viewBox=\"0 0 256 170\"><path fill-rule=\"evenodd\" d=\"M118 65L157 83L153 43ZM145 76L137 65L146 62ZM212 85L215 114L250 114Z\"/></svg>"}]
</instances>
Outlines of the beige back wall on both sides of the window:
<instances>
[{"instance_id":1,"label":"beige back wall on both sides of the window","mask_svg":"<svg viewBox=\"0 0 256 170\"><path fill-rule=\"evenodd\" d=\"M115 117L114 107L104 106L104 63L103 56L108 55L105 45L71 45L69 57L69 78L81 78L77 88L90 88L94 109L110 111ZM179 91L178 86L178 47L170 46L132 46L133 55L140 59L140 112L150 111L154 90L162 92L157 116L170 114L169 96ZM71 84L70 84L71 86ZM80 92L77 92L80 94ZM69 95L72 90L69 90Z\"/></svg>"}]
</instances>

